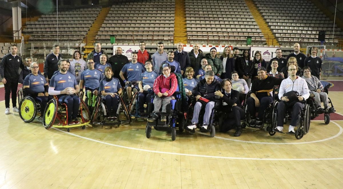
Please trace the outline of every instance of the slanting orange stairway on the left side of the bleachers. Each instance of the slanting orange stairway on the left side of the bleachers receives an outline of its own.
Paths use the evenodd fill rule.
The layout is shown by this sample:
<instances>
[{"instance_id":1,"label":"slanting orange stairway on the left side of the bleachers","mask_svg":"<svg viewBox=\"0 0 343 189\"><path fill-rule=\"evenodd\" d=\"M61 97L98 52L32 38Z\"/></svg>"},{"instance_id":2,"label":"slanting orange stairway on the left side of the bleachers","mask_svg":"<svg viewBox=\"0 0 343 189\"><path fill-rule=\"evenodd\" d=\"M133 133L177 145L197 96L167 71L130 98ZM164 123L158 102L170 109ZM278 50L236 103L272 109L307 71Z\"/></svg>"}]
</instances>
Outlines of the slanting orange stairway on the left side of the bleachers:
<instances>
[{"instance_id":1,"label":"slanting orange stairway on the left side of the bleachers","mask_svg":"<svg viewBox=\"0 0 343 189\"><path fill-rule=\"evenodd\" d=\"M90 53L94 49L93 43L95 42L95 36L98 34L100 27L104 23L109 10L110 10L109 7L103 7L101 9L98 16L94 20L94 23L90 27L87 35L85 36L84 38L84 42L86 42L85 56L86 54Z\"/></svg>"}]
</instances>

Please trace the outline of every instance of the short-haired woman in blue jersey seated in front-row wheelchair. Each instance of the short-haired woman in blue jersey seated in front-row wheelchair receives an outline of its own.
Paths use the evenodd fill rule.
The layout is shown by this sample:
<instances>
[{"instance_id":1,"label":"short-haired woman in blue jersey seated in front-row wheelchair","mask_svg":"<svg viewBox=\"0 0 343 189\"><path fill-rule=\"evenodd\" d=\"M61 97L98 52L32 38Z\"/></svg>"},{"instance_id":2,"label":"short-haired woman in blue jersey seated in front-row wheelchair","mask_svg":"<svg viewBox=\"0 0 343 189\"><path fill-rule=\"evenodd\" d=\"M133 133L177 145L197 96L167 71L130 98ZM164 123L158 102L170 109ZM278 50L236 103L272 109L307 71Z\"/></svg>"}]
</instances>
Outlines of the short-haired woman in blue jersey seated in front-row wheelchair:
<instances>
[{"instance_id":1,"label":"short-haired woman in blue jersey seated in front-row wheelchair","mask_svg":"<svg viewBox=\"0 0 343 189\"><path fill-rule=\"evenodd\" d=\"M113 77L112 67L105 68L105 78L100 81L99 91L107 106L107 119L117 119L119 95L122 90L119 79Z\"/></svg>"}]
</instances>

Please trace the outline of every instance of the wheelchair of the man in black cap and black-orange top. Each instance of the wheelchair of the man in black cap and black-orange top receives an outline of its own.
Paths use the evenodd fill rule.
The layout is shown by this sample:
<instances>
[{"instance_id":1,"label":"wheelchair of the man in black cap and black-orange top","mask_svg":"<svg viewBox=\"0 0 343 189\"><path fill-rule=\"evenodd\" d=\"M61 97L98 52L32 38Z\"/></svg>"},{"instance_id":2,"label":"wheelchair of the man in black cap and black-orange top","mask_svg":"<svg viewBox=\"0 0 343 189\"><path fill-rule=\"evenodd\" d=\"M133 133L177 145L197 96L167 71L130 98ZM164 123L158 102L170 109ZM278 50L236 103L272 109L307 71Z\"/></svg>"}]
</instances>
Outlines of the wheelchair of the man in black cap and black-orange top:
<instances>
[{"instance_id":1,"label":"wheelchair of the man in black cap and black-orange top","mask_svg":"<svg viewBox=\"0 0 343 189\"><path fill-rule=\"evenodd\" d=\"M245 110L245 122L242 123L242 128L250 127L250 128L257 128L257 129L264 129L264 131L268 132L272 127L273 127L273 116L276 115L276 107L277 104L279 104L278 101L274 100L269 104L269 106L264 110L264 115L263 115L263 120L262 120L262 126L261 127L256 127L256 126L250 126L249 122L251 121L250 118L250 113L248 110L248 105L247 105L247 99L250 96L248 93L246 95L245 101L244 101L244 110ZM273 96L275 94L273 93Z\"/></svg>"}]
</instances>

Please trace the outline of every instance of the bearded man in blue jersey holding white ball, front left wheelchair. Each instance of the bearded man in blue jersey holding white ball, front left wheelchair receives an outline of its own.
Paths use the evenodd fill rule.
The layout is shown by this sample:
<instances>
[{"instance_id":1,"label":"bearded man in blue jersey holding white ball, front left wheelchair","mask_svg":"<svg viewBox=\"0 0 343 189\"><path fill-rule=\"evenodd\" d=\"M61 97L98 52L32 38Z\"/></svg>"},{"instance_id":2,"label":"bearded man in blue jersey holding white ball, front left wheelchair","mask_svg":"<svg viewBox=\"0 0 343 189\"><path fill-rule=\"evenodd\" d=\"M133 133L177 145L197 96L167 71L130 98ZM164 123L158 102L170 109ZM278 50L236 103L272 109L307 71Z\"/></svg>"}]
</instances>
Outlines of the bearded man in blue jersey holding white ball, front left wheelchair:
<instances>
[{"instance_id":1,"label":"bearded man in blue jersey holding white ball, front left wheelchair","mask_svg":"<svg viewBox=\"0 0 343 189\"><path fill-rule=\"evenodd\" d=\"M76 93L80 92L80 87L75 76L67 71L67 60L60 59L58 65L60 71L51 77L49 95L57 95L60 103L67 104L68 125L79 124L77 116L80 108L80 98Z\"/></svg>"}]
</instances>

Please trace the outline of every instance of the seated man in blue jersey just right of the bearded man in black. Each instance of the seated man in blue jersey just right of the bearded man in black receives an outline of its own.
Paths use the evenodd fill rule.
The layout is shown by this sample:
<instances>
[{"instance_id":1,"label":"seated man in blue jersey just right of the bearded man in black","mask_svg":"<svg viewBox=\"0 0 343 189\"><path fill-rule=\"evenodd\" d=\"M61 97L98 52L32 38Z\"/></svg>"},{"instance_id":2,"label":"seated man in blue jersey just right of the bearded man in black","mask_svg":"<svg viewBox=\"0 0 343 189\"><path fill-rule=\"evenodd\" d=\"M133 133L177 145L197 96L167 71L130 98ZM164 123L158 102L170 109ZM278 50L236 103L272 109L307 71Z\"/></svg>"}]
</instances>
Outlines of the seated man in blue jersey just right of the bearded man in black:
<instances>
[{"instance_id":1,"label":"seated man in blue jersey just right of the bearded man in black","mask_svg":"<svg viewBox=\"0 0 343 189\"><path fill-rule=\"evenodd\" d=\"M132 52L131 54L132 61L125 64L119 73L120 78L124 81L126 85L125 87L126 87L126 92L127 92L129 101L131 101L132 91L134 93L138 92L138 81L141 78L141 74L145 71L142 66L142 63L139 63L137 61L137 57L138 57L137 52L136 51ZM125 76L124 76L125 73L128 76L127 80L125 79ZM129 85L133 81L136 81L137 84Z\"/></svg>"}]
</instances>

